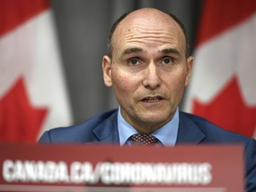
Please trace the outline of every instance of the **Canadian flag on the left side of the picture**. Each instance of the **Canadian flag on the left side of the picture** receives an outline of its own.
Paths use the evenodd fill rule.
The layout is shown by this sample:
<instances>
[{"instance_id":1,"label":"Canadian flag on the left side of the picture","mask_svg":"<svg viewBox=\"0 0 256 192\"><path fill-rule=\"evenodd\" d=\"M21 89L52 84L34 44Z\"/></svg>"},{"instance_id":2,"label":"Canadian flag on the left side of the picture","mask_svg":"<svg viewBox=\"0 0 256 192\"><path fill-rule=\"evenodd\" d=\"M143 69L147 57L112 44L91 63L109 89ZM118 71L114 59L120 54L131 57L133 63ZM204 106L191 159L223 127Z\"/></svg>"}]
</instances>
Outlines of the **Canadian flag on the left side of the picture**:
<instances>
[{"instance_id":1,"label":"Canadian flag on the left side of the picture","mask_svg":"<svg viewBox=\"0 0 256 192\"><path fill-rule=\"evenodd\" d=\"M0 0L0 141L71 124L48 0Z\"/></svg>"}]
</instances>

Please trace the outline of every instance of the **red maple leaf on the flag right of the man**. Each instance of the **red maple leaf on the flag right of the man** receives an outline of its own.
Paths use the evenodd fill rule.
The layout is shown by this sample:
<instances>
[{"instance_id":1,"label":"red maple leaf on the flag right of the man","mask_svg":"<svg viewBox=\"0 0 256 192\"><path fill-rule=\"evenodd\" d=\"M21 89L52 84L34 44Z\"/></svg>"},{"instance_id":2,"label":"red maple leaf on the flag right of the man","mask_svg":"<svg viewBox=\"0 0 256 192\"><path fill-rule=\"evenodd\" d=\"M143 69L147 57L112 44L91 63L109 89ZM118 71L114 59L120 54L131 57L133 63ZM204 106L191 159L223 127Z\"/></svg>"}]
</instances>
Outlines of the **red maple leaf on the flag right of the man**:
<instances>
[{"instance_id":1,"label":"red maple leaf on the flag right of the man","mask_svg":"<svg viewBox=\"0 0 256 192\"><path fill-rule=\"evenodd\" d=\"M239 91L236 76L226 88L208 104L193 100L194 113L229 131L249 137L256 128L256 106L246 106Z\"/></svg>"}]
</instances>

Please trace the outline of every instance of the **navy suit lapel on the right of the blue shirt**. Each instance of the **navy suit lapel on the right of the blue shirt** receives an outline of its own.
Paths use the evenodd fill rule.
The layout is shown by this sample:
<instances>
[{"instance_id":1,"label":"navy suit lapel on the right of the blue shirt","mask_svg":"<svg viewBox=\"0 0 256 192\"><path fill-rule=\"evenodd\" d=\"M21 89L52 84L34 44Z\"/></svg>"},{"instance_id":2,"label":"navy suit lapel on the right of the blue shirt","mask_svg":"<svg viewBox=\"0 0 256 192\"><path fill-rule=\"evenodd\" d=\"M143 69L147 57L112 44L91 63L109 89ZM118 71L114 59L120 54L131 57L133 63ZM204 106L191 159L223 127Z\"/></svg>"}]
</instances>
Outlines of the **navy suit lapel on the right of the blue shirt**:
<instances>
[{"instance_id":1,"label":"navy suit lapel on the right of the blue shirt","mask_svg":"<svg viewBox=\"0 0 256 192\"><path fill-rule=\"evenodd\" d=\"M205 134L185 113L180 112L180 124L177 144L194 143L198 144L204 140Z\"/></svg>"}]
</instances>

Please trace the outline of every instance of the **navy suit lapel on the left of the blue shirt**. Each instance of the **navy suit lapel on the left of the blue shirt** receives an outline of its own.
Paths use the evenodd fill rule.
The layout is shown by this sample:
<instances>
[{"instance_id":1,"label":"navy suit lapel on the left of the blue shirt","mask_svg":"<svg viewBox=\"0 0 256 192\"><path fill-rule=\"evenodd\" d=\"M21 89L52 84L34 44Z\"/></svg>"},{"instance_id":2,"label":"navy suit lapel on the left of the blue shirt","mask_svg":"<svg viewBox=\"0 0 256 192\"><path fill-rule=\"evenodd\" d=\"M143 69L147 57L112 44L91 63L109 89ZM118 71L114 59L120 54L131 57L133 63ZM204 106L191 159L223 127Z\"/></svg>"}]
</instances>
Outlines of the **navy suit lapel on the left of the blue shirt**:
<instances>
[{"instance_id":1,"label":"navy suit lapel on the left of the blue shirt","mask_svg":"<svg viewBox=\"0 0 256 192\"><path fill-rule=\"evenodd\" d=\"M93 130L93 133L102 144L119 144L117 110L111 116L108 116L101 124L99 124Z\"/></svg>"}]
</instances>

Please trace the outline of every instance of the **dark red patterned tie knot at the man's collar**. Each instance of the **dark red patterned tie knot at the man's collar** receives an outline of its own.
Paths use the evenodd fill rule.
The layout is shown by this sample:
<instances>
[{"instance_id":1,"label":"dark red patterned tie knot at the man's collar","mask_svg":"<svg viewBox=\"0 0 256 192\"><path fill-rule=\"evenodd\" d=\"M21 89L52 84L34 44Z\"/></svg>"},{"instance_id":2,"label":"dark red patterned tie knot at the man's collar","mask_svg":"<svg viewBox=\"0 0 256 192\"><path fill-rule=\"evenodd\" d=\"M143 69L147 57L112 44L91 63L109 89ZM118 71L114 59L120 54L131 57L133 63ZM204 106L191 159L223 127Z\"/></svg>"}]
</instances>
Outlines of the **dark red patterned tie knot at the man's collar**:
<instances>
[{"instance_id":1,"label":"dark red patterned tie knot at the man's collar","mask_svg":"<svg viewBox=\"0 0 256 192\"><path fill-rule=\"evenodd\" d=\"M154 145L157 142L156 137L153 135L148 134L133 134L132 137L132 145L139 145L139 146L150 146Z\"/></svg>"}]
</instances>

